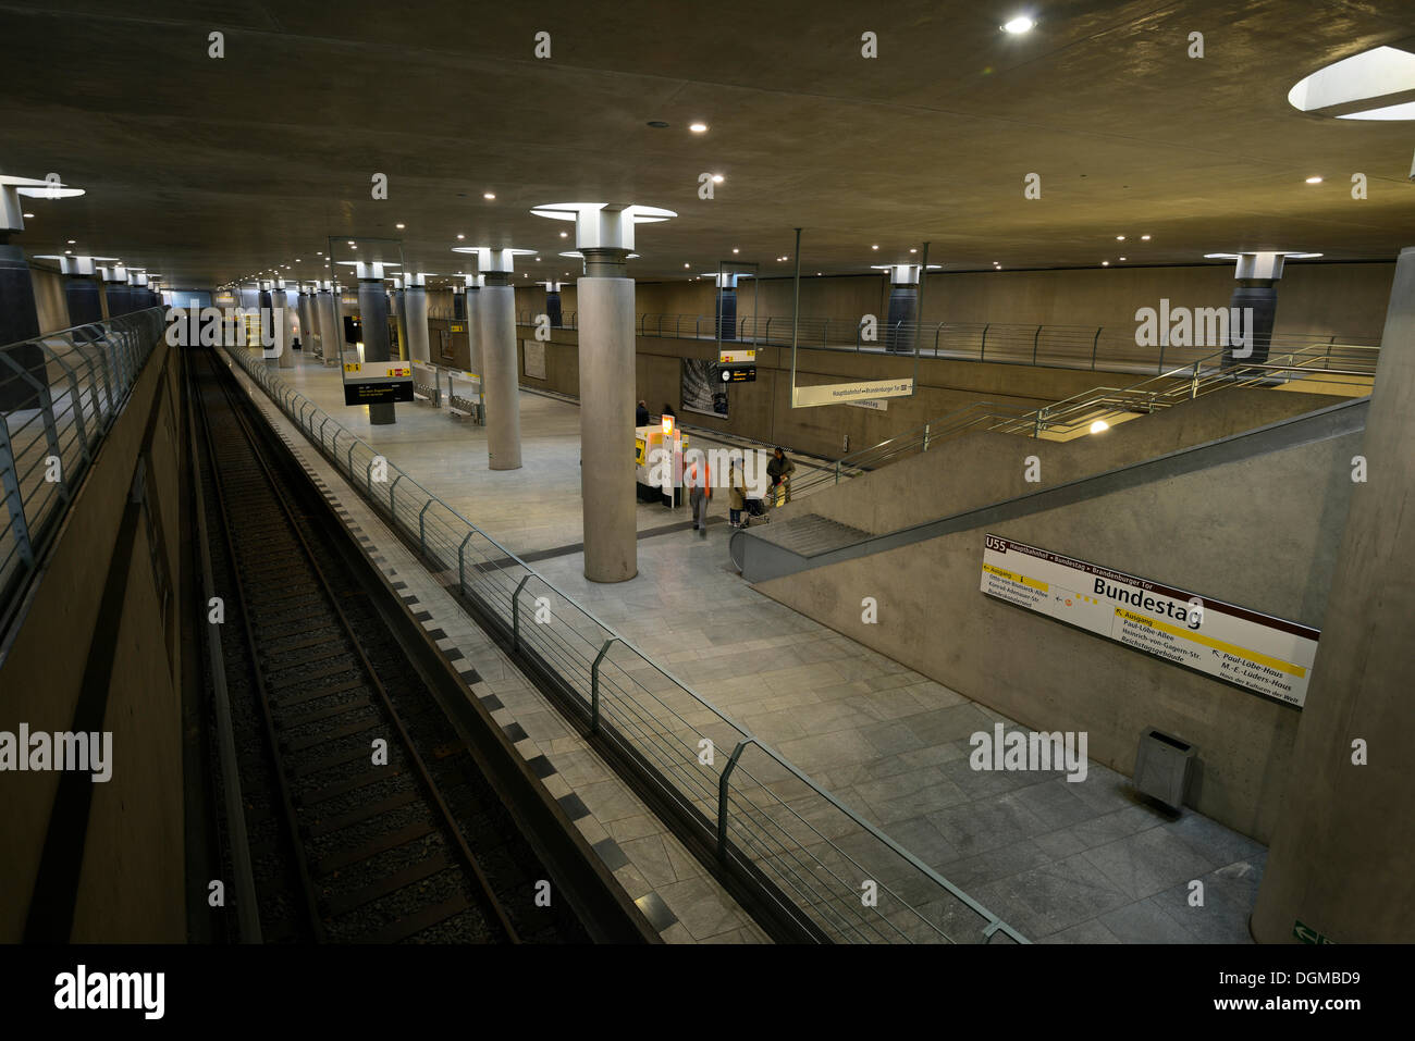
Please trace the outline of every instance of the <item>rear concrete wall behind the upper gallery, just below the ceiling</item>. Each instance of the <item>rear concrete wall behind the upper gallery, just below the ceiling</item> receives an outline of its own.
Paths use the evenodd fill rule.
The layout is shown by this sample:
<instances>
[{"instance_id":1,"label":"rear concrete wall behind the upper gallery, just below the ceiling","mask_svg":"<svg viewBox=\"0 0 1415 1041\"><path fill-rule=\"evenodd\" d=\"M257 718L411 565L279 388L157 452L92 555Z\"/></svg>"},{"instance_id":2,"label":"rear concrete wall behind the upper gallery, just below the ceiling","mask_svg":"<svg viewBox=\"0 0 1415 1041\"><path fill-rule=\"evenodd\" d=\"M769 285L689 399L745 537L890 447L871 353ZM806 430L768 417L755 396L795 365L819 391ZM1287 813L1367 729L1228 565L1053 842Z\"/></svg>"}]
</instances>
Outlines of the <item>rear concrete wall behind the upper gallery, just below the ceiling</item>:
<instances>
[{"instance_id":1,"label":"rear concrete wall behind the upper gallery, just below the ceiling","mask_svg":"<svg viewBox=\"0 0 1415 1041\"><path fill-rule=\"evenodd\" d=\"M790 264L780 264L788 267ZM1337 335L1375 342L1390 301L1394 263L1312 263L1293 260L1278 287L1275 331ZM757 287L751 280L737 290L737 317L791 314L788 272L766 270ZM884 273L860 276L801 274L801 314L829 318L845 327L860 315L880 318L889 311ZM924 290L925 322L1003 322L1102 327L1133 332L1135 311L1159 307L1227 306L1234 287L1232 263L1193 267L1094 267L1039 272L937 272ZM715 311L712 280L641 283L641 314L705 314ZM543 294L542 294L543 297Z\"/></svg>"}]
</instances>

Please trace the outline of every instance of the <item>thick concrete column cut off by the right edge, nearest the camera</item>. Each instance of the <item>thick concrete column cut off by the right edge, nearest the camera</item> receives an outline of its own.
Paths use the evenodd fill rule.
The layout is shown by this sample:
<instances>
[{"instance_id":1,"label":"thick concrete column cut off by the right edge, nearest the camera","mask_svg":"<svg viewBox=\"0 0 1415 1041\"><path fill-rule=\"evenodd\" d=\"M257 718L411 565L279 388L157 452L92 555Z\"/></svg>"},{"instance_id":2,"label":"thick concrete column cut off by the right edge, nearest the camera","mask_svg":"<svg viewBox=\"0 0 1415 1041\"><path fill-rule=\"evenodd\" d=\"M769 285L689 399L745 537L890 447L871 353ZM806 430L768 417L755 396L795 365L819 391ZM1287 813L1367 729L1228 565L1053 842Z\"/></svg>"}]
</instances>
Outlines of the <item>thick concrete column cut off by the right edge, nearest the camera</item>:
<instances>
[{"instance_id":1,"label":"thick concrete column cut off by the right edge, nearest the camera","mask_svg":"<svg viewBox=\"0 0 1415 1041\"><path fill-rule=\"evenodd\" d=\"M1415 936L1415 248L1401 252L1282 819L1252 912L1259 942L1296 922L1339 943ZM1356 765L1353 744L1367 747Z\"/></svg>"}]
</instances>

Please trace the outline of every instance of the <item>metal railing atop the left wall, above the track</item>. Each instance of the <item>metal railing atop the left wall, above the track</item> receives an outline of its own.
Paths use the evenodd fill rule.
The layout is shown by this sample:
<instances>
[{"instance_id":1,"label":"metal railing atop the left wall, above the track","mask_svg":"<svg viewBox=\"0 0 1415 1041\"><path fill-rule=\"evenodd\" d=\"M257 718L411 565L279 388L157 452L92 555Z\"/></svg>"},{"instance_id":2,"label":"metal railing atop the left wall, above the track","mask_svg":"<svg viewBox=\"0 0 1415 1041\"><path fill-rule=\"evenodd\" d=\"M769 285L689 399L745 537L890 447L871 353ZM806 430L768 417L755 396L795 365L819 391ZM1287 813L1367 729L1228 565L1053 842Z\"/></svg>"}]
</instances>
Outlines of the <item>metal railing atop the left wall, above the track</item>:
<instances>
[{"instance_id":1,"label":"metal railing atop the left wall, above the track","mask_svg":"<svg viewBox=\"0 0 1415 1041\"><path fill-rule=\"evenodd\" d=\"M8 622L161 337L163 310L133 311L0 347L3 622Z\"/></svg>"}]
</instances>

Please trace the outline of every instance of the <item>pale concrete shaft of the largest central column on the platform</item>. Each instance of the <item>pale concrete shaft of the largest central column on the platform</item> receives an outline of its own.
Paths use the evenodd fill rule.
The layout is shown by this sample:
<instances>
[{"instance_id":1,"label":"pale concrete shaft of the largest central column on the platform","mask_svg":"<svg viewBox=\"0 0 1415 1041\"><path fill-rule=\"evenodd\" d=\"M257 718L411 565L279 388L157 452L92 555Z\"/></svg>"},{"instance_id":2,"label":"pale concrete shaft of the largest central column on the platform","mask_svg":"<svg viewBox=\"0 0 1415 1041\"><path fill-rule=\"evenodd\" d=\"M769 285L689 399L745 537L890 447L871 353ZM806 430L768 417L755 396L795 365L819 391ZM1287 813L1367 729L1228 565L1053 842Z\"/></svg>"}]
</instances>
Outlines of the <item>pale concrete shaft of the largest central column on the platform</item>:
<instances>
[{"instance_id":1,"label":"pale concrete shaft of the largest central column on the platform","mask_svg":"<svg viewBox=\"0 0 1415 1041\"><path fill-rule=\"evenodd\" d=\"M634 489L634 280L576 280L580 327L580 494L584 577L638 574Z\"/></svg>"}]
</instances>

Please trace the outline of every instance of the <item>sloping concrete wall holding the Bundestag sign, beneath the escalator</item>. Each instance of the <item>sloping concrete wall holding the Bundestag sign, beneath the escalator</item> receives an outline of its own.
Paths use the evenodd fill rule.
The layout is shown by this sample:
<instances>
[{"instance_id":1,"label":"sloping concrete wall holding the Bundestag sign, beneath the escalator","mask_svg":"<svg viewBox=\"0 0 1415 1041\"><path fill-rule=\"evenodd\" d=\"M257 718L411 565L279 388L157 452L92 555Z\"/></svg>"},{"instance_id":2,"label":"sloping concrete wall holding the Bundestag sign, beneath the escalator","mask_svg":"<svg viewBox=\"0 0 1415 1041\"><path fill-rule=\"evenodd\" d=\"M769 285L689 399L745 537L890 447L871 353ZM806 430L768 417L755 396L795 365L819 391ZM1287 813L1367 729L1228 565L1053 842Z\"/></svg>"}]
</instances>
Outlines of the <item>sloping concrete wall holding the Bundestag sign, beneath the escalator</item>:
<instances>
[{"instance_id":1,"label":"sloping concrete wall holding the Bundestag sign, beneath the escalator","mask_svg":"<svg viewBox=\"0 0 1415 1041\"><path fill-rule=\"evenodd\" d=\"M1320 627L1360 443L1347 434L1305 444L989 530ZM968 465L959 458L961 484L985 477ZM903 467L880 475L908 479ZM1087 731L1091 760L1122 774L1133 771L1145 727L1177 734L1199 752L1190 803L1268 842L1299 711L986 597L983 535L947 535L758 588L1023 726ZM879 601L879 624L862 624L863 597Z\"/></svg>"}]
</instances>

